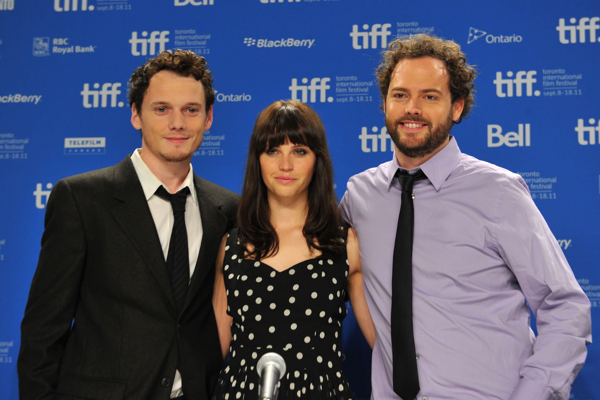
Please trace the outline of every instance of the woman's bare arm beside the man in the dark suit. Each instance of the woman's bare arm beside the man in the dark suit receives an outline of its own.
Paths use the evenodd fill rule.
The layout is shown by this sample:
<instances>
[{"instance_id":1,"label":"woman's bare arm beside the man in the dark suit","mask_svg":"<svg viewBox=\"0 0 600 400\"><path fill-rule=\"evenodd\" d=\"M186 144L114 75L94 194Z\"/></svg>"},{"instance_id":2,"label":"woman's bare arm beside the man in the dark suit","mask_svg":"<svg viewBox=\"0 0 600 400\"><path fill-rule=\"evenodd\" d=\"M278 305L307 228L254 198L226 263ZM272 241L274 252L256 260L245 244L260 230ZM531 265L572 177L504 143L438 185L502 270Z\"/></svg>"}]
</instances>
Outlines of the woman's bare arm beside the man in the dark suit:
<instances>
[{"instance_id":1,"label":"woman's bare arm beside the man in the dark suit","mask_svg":"<svg viewBox=\"0 0 600 400\"><path fill-rule=\"evenodd\" d=\"M223 279L223 257L225 257L225 245L227 243L227 234L221 240L221 246L217 254L215 263L215 287L212 292L212 308L215 310L217 318L217 329L219 331L219 340L221 342L221 353L223 359L229 353L229 343L231 342L231 323L233 317L227 315L227 293L225 291L225 280Z\"/></svg>"}]
</instances>

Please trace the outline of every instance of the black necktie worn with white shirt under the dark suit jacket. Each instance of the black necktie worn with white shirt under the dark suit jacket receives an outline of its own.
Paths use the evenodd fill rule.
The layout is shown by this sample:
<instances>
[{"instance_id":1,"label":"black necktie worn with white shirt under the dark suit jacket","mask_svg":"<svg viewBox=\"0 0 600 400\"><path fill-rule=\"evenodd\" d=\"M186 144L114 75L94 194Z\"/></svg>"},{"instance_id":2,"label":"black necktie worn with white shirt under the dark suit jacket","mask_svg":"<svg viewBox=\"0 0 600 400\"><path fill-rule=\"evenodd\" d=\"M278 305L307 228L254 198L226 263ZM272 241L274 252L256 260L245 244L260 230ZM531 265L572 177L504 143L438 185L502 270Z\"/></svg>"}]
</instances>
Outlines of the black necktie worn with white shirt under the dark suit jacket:
<instances>
[{"instance_id":1,"label":"black necktie worn with white shirt under the dark suit jacket","mask_svg":"<svg viewBox=\"0 0 600 400\"><path fill-rule=\"evenodd\" d=\"M185 229L185 200L190 188L185 187L178 193L170 194L161 185L155 194L171 202L173 207L173 230L167 252L167 271L171 278L173 296L178 311L184 305L185 293L190 282L190 258L188 255L187 230Z\"/></svg>"}]
</instances>

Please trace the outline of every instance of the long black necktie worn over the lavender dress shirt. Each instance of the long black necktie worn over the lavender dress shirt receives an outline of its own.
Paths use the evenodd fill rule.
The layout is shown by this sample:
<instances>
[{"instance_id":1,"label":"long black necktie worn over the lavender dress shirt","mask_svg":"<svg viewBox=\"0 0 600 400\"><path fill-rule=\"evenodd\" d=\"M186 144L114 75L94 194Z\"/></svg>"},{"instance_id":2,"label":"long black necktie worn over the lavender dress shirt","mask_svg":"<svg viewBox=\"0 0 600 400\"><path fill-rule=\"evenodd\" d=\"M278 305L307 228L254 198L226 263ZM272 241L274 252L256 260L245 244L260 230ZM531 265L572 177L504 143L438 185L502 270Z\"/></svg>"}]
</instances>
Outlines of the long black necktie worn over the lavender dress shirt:
<instances>
[{"instance_id":1,"label":"long black necktie worn over the lavender dress shirt","mask_svg":"<svg viewBox=\"0 0 600 400\"><path fill-rule=\"evenodd\" d=\"M396 177L400 181L402 195L392 261L394 392L403 400L414 400L420 387L412 319L412 242L415 222L412 190L415 181L427 179L427 176L421 170L409 175L398 169Z\"/></svg>"}]
</instances>

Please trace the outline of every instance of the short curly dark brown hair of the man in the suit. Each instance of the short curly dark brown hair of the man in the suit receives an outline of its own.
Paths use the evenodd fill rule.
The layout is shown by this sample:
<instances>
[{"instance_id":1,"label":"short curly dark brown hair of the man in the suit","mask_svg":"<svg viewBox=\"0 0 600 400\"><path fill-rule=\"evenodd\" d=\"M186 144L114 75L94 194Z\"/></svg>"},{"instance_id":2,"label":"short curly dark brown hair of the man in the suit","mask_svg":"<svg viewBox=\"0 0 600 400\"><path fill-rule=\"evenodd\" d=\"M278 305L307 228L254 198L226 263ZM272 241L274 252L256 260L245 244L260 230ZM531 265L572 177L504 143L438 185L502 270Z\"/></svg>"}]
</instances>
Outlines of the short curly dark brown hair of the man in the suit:
<instances>
[{"instance_id":1,"label":"short curly dark brown hair of the man in the suit","mask_svg":"<svg viewBox=\"0 0 600 400\"><path fill-rule=\"evenodd\" d=\"M215 102L215 90L212 88L212 73L208 70L208 64L203 56L199 56L190 50L175 49L170 53L164 51L155 58L148 59L144 65L138 67L131 75L127 97L129 106L136 106L137 113L142 113L142 101L150 84L150 79L160 71L173 71L181 76L193 76L202 82L204 97L206 101L206 112Z\"/></svg>"}]
</instances>

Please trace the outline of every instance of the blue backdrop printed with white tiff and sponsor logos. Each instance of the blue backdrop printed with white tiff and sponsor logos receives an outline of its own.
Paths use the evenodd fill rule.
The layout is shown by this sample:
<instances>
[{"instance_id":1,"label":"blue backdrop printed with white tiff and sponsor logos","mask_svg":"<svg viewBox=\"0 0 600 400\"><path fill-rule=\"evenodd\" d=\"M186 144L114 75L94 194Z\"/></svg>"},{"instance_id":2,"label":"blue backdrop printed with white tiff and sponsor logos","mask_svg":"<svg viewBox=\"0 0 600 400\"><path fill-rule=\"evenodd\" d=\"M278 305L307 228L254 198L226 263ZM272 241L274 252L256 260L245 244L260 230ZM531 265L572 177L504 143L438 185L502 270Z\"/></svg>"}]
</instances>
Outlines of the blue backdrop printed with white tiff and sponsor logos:
<instances>
[{"instance_id":1,"label":"blue backdrop printed with white tiff and sponsor logos","mask_svg":"<svg viewBox=\"0 0 600 400\"><path fill-rule=\"evenodd\" d=\"M319 113L338 196L392 157L374 69L397 35L461 44L480 71L461 150L520 173L583 290L600 306L598 1L0 0L0 398L17 399L19 324L53 184L140 146L127 80L163 49L206 56L214 124L194 172L241 190L257 114L293 98ZM535 327L535 326L534 326ZM370 396L370 350L352 315L344 368ZM590 345L572 399L600 398ZM596 377L596 378L595 378Z\"/></svg>"}]
</instances>

